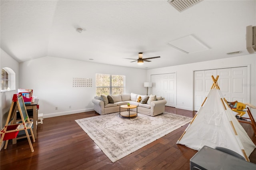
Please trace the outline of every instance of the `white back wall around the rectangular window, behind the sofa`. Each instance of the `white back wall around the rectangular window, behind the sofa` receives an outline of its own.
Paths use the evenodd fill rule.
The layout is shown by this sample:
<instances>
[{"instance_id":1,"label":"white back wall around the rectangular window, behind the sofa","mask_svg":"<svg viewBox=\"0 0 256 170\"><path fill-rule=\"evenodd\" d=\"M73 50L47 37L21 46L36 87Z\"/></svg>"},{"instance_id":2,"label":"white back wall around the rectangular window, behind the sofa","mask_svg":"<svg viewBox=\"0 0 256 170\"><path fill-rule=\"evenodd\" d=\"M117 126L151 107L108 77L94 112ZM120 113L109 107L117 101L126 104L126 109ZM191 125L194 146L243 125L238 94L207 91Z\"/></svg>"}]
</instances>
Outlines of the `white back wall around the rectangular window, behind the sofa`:
<instances>
[{"instance_id":1,"label":"white back wall around the rectangular window, behind the sofa","mask_svg":"<svg viewBox=\"0 0 256 170\"><path fill-rule=\"evenodd\" d=\"M93 111L95 74L126 76L126 93L146 94L146 70L56 57L20 63L19 88L33 89L44 118ZM72 87L73 77L92 78L92 87ZM69 109L71 106L71 109ZM55 110L58 107L58 110Z\"/></svg>"}]
</instances>

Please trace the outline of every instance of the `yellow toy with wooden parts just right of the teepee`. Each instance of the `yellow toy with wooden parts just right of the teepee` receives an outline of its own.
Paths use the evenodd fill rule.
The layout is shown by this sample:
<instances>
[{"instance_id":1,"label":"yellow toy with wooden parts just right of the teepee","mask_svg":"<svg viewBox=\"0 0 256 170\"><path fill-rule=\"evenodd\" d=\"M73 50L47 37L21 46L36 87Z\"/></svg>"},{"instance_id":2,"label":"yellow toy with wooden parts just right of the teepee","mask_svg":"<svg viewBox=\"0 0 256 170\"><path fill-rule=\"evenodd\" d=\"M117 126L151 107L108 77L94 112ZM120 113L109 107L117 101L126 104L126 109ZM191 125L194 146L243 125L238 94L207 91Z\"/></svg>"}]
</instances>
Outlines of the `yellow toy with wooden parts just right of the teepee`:
<instances>
[{"instance_id":1,"label":"yellow toy with wooden parts just right of the teepee","mask_svg":"<svg viewBox=\"0 0 256 170\"><path fill-rule=\"evenodd\" d=\"M238 101L228 102L228 105L230 106L230 109L234 112L236 112L236 117L241 118L246 112L244 109L246 108L246 105L249 107L256 109L256 107L250 103L241 103Z\"/></svg>"}]
</instances>

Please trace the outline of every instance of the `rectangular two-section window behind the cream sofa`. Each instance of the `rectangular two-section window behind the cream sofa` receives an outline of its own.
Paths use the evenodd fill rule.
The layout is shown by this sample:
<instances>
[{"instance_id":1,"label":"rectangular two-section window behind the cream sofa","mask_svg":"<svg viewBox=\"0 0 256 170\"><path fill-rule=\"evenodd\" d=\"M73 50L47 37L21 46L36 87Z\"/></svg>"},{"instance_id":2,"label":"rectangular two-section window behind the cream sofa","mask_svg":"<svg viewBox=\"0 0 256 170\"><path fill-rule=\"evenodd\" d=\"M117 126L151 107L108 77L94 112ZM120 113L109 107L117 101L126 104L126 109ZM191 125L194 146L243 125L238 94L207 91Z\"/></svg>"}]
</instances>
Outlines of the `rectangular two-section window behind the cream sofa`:
<instances>
[{"instance_id":1,"label":"rectangular two-section window behind the cream sofa","mask_svg":"<svg viewBox=\"0 0 256 170\"><path fill-rule=\"evenodd\" d=\"M96 95L123 94L124 84L124 75L96 74Z\"/></svg>"}]
</instances>

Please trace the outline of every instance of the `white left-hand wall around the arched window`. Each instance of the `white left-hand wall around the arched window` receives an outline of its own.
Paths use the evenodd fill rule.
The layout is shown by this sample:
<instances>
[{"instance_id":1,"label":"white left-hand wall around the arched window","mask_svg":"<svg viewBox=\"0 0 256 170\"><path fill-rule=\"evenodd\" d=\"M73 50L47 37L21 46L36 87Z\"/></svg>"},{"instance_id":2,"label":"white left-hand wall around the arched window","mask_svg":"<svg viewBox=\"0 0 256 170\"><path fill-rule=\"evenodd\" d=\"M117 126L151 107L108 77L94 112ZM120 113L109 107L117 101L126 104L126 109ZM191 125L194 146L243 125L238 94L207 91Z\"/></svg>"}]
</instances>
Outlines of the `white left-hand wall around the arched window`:
<instances>
[{"instance_id":1,"label":"white left-hand wall around the arched window","mask_svg":"<svg viewBox=\"0 0 256 170\"><path fill-rule=\"evenodd\" d=\"M16 88L18 87L18 82L19 82L19 63L14 60L10 55L8 55L4 50L0 49L0 67L4 68L4 67L9 67L11 68L14 72L15 72L15 77L16 77ZM1 105L0 105L0 125L1 128L4 127L5 123L6 123L6 119L10 110L10 106L12 103L12 97L13 94L16 94L17 91L16 90L12 90L12 91L6 91L6 92L2 92L0 95L0 101L1 101Z\"/></svg>"}]
</instances>

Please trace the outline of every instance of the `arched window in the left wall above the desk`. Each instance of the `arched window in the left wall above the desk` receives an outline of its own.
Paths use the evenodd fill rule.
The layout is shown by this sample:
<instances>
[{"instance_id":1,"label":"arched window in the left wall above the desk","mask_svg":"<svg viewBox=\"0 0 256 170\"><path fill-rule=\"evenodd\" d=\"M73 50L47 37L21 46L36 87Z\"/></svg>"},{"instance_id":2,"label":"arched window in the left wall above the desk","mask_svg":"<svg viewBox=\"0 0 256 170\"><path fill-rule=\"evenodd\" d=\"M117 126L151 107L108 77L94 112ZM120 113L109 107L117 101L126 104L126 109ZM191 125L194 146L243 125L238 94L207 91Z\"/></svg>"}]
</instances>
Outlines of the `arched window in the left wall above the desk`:
<instances>
[{"instance_id":1,"label":"arched window in the left wall above the desk","mask_svg":"<svg viewBox=\"0 0 256 170\"><path fill-rule=\"evenodd\" d=\"M15 73L12 69L4 67L1 69L1 92L15 90Z\"/></svg>"}]
</instances>

